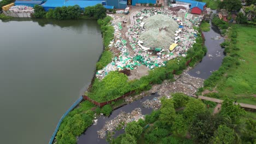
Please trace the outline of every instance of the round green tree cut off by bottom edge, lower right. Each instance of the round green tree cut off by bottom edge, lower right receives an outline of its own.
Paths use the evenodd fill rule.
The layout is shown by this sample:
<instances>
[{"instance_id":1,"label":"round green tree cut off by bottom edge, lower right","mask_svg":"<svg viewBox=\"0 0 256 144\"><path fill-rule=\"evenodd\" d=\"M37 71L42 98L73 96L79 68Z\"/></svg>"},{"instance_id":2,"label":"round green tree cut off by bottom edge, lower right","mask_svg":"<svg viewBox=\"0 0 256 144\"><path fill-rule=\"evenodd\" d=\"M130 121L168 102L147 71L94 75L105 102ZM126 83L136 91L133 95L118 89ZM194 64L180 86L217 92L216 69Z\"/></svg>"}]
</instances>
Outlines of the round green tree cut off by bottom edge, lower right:
<instances>
[{"instance_id":1,"label":"round green tree cut off by bottom edge, lower right","mask_svg":"<svg viewBox=\"0 0 256 144\"><path fill-rule=\"evenodd\" d=\"M226 125L219 125L218 129L214 132L214 144L232 144L234 140L234 129L231 129Z\"/></svg>"}]
</instances>

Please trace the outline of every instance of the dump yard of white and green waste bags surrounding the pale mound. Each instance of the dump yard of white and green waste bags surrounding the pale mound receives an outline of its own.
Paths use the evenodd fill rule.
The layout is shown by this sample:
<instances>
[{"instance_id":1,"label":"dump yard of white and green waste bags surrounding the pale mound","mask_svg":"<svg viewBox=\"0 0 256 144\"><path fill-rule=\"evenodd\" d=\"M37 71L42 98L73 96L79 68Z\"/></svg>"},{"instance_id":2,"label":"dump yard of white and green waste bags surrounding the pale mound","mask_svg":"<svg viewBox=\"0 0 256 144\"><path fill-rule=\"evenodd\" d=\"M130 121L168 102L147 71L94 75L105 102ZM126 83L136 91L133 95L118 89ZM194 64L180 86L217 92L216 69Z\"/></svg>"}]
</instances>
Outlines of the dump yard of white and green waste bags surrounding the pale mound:
<instances>
[{"instance_id":1,"label":"dump yard of white and green waste bags surrounding the pale mound","mask_svg":"<svg viewBox=\"0 0 256 144\"><path fill-rule=\"evenodd\" d=\"M185 57L188 49L196 43L197 31L193 26L202 20L202 16L193 16L187 11L184 7L179 11L144 8L132 13L130 19L109 15L115 29L109 47L115 57L97 71L96 77L101 80L110 71L136 70L141 65L148 70L164 67L170 59ZM126 26L128 21L131 24Z\"/></svg>"}]
</instances>

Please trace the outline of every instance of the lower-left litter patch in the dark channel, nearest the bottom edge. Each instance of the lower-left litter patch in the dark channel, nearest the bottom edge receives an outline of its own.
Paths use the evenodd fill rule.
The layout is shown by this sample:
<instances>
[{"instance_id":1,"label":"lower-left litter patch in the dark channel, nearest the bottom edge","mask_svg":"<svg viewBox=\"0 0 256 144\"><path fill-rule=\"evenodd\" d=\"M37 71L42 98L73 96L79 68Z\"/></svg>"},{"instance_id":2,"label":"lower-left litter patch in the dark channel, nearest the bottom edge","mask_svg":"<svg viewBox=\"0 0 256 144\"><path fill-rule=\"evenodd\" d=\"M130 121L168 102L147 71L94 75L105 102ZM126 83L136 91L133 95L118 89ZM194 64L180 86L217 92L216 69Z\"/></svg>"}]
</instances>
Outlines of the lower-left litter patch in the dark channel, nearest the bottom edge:
<instances>
[{"instance_id":1,"label":"lower-left litter patch in the dark channel, nearest the bottom edge","mask_svg":"<svg viewBox=\"0 0 256 144\"><path fill-rule=\"evenodd\" d=\"M117 117L110 121L107 121L106 124L104 124L103 128L97 131L98 137L104 139L107 134L106 132L113 132L119 127L125 128L127 123L130 123L132 121L137 122L138 119L144 119L144 115L142 115L140 108L136 108L131 113L121 111Z\"/></svg>"}]
</instances>

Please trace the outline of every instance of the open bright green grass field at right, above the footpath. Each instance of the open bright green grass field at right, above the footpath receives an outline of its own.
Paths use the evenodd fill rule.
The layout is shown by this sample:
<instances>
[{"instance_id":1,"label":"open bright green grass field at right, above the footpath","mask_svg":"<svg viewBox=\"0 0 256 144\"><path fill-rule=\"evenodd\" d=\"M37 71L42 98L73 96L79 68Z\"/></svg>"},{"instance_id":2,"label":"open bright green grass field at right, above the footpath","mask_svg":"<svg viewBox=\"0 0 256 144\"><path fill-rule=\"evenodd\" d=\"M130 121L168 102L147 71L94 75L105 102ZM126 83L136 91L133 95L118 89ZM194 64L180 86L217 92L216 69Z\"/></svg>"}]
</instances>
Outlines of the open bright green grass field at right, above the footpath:
<instances>
[{"instance_id":1,"label":"open bright green grass field at right, above the footpath","mask_svg":"<svg viewBox=\"0 0 256 144\"><path fill-rule=\"evenodd\" d=\"M240 50L234 52L239 55L236 67L226 72L224 79L220 79L217 90L219 95L227 95L240 103L256 105L256 29L255 27L237 26L237 44ZM235 37L235 36L234 36Z\"/></svg>"}]
</instances>

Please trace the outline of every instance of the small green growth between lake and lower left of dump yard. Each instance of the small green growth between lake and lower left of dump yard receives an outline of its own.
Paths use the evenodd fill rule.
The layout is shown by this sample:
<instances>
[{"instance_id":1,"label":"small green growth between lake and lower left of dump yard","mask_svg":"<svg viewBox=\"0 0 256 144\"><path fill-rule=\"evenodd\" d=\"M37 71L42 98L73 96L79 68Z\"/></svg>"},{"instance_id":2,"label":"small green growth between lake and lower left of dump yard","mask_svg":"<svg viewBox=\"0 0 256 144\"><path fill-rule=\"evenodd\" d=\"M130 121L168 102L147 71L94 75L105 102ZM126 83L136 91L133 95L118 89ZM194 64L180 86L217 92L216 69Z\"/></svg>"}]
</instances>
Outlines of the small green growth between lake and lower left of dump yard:
<instances>
[{"instance_id":1,"label":"small green growth between lake and lower left of dump yard","mask_svg":"<svg viewBox=\"0 0 256 144\"><path fill-rule=\"evenodd\" d=\"M103 69L107 64L112 61L113 54L111 51L103 51L100 61L96 63L96 70Z\"/></svg>"}]
</instances>

